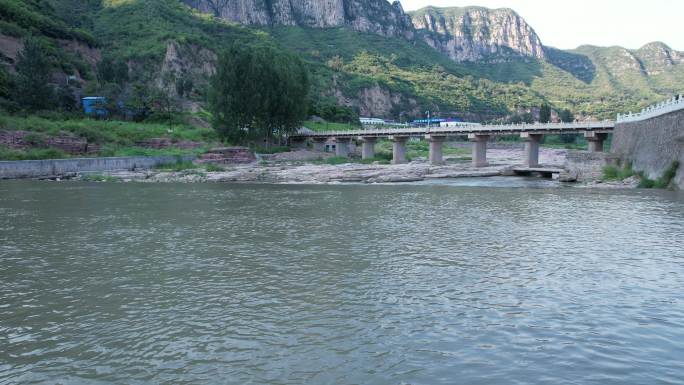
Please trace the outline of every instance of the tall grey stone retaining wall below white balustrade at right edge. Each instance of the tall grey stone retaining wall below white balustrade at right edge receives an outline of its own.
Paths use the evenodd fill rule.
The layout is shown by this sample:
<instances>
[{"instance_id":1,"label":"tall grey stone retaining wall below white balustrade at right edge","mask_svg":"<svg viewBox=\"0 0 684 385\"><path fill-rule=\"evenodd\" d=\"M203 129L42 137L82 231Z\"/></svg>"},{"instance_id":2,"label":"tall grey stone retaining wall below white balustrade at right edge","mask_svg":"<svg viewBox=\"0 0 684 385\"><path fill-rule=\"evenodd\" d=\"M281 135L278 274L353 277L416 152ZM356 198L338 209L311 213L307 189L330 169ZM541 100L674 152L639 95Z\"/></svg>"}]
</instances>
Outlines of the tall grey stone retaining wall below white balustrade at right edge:
<instances>
[{"instance_id":1,"label":"tall grey stone retaining wall below white balustrade at right edge","mask_svg":"<svg viewBox=\"0 0 684 385\"><path fill-rule=\"evenodd\" d=\"M663 175L678 160L675 183L684 189L684 110L636 122L618 123L611 151L649 178Z\"/></svg>"}]
</instances>

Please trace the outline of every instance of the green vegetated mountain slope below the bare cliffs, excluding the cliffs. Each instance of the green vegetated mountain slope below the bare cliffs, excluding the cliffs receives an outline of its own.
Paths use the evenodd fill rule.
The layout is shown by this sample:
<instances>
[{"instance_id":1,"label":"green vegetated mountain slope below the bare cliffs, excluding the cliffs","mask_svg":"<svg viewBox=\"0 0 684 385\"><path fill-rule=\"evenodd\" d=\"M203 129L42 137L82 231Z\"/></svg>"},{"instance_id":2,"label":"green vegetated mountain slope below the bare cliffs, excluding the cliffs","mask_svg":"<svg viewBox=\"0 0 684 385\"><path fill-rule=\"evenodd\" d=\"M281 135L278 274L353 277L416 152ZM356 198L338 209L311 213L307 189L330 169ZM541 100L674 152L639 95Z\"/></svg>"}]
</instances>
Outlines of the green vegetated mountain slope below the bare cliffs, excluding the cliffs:
<instances>
[{"instance_id":1,"label":"green vegetated mountain slope below the bare cliffs, excluding the cliffs","mask_svg":"<svg viewBox=\"0 0 684 385\"><path fill-rule=\"evenodd\" d=\"M507 55L457 63L420 38L349 27L243 26L178 0L0 0L0 15L3 36L42 36L64 72L82 74L84 90L96 89L93 61L115 57L128 64L130 82L158 86L169 74L189 79L193 92L186 97L200 105L216 53L236 43L268 44L301 55L312 73L316 101L395 119L422 116L429 109L433 115L489 120L543 102L613 118L684 92L682 54L662 43L636 51L545 47L543 59ZM98 55L88 63L64 48L65 41L87 45Z\"/></svg>"}]
</instances>

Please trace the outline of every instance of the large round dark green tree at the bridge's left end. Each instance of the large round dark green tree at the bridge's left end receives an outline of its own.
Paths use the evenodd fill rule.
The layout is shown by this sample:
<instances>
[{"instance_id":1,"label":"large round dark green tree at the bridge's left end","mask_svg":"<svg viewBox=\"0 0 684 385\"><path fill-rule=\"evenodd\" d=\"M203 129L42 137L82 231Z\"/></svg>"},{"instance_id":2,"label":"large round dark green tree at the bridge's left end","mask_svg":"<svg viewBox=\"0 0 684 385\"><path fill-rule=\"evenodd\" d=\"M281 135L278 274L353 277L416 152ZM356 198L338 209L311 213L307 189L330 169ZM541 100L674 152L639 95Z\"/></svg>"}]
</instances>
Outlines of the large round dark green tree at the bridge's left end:
<instances>
[{"instance_id":1,"label":"large round dark green tree at the bridge's left end","mask_svg":"<svg viewBox=\"0 0 684 385\"><path fill-rule=\"evenodd\" d=\"M209 90L213 126L227 140L282 136L301 127L309 75L294 55L234 45L218 60Z\"/></svg>"}]
</instances>

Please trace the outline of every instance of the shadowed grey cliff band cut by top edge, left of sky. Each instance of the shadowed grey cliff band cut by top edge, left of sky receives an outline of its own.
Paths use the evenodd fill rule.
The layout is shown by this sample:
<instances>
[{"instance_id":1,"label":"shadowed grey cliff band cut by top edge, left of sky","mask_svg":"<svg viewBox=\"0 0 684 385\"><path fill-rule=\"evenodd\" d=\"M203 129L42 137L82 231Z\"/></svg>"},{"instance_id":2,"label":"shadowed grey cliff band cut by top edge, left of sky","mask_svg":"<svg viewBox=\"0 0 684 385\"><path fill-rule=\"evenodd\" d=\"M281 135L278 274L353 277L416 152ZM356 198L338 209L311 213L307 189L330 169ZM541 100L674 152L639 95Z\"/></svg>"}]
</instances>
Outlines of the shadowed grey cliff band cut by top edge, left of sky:
<instances>
[{"instance_id":1,"label":"shadowed grey cliff band cut by top edge, left of sky","mask_svg":"<svg viewBox=\"0 0 684 385\"><path fill-rule=\"evenodd\" d=\"M349 26L356 31L413 38L413 27L398 1L386 0L184 0L203 12L253 25L315 28Z\"/></svg>"}]
</instances>

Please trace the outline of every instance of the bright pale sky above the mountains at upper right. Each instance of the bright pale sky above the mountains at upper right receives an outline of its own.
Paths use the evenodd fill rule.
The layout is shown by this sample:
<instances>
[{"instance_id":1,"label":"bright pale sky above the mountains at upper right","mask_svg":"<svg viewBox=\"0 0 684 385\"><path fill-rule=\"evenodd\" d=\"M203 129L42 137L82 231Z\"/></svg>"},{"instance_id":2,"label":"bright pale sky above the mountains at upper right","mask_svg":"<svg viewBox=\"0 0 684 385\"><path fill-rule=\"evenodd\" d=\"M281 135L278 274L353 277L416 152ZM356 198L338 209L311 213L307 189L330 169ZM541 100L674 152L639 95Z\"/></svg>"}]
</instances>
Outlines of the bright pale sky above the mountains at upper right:
<instances>
[{"instance_id":1,"label":"bright pale sky above the mountains at upper right","mask_svg":"<svg viewBox=\"0 0 684 385\"><path fill-rule=\"evenodd\" d=\"M402 0L406 11L428 5L512 8L542 43L571 49L583 44L636 49L662 41L684 51L683 0Z\"/></svg>"}]
</instances>

